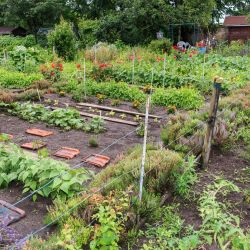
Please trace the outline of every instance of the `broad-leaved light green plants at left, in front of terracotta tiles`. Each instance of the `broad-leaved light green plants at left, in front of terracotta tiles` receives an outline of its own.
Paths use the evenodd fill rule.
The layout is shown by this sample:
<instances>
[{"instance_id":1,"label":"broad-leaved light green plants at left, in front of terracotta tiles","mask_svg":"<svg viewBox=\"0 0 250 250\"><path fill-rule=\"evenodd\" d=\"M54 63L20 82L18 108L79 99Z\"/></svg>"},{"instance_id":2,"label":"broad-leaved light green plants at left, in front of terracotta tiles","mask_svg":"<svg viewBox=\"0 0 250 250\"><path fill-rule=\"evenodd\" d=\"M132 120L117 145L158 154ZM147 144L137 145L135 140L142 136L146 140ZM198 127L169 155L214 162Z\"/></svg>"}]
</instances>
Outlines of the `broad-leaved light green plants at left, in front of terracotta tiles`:
<instances>
[{"instance_id":1,"label":"broad-leaved light green plants at left, in front of terracotta tiles","mask_svg":"<svg viewBox=\"0 0 250 250\"><path fill-rule=\"evenodd\" d=\"M8 186L12 181L19 181L24 184L25 193L48 183L37 194L53 199L66 199L82 190L82 184L91 177L83 168L70 170L63 163L48 158L32 159L17 146L11 144L9 147L11 149L0 147L0 187ZM35 199L36 195L33 198Z\"/></svg>"}]
</instances>

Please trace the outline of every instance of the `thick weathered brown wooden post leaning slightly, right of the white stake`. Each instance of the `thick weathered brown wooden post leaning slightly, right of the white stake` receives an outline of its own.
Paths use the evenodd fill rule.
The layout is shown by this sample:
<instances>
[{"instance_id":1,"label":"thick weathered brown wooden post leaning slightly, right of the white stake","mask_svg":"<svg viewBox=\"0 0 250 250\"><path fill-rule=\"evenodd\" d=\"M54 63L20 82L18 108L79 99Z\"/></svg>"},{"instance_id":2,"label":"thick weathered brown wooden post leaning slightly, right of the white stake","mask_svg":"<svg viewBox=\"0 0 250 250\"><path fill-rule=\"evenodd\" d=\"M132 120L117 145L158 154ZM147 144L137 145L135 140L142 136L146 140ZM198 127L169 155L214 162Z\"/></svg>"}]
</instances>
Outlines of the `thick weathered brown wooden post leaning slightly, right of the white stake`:
<instances>
[{"instance_id":1,"label":"thick weathered brown wooden post leaning slightly, right of the white stake","mask_svg":"<svg viewBox=\"0 0 250 250\"><path fill-rule=\"evenodd\" d=\"M209 117L207 122L207 132L205 134L203 150L202 150L202 168L206 168L208 165L222 82L223 78L221 77L214 78L214 89L210 102Z\"/></svg>"}]
</instances>

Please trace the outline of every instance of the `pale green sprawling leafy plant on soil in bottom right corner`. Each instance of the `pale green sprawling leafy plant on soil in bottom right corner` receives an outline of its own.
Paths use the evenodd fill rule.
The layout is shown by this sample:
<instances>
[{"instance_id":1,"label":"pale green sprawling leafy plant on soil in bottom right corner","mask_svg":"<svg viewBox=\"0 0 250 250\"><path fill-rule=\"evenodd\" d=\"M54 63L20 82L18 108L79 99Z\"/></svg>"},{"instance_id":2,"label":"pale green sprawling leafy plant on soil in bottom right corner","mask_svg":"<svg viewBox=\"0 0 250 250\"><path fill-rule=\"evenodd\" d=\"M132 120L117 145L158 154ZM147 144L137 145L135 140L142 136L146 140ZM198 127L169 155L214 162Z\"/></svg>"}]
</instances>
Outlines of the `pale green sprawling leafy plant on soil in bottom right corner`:
<instances>
[{"instance_id":1,"label":"pale green sprawling leafy plant on soil in bottom right corner","mask_svg":"<svg viewBox=\"0 0 250 250\"><path fill-rule=\"evenodd\" d=\"M224 202L217 197L229 192L240 192L232 182L217 179L208 185L199 199L199 211L202 217L202 237L212 244L214 241L221 249L248 249L249 235L240 228L239 217L227 211Z\"/></svg>"}]
</instances>

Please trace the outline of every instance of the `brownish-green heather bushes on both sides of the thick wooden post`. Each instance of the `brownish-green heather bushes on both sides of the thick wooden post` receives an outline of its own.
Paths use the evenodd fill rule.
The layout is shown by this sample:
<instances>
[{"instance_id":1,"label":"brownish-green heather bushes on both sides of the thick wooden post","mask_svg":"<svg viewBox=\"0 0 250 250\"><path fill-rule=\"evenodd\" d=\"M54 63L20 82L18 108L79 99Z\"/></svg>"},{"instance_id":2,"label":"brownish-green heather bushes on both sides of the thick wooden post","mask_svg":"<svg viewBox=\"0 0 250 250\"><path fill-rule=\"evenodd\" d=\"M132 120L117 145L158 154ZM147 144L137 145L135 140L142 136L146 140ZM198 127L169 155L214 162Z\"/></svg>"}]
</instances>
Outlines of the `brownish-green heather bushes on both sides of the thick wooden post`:
<instances>
[{"instance_id":1,"label":"brownish-green heather bushes on both sides of the thick wooden post","mask_svg":"<svg viewBox=\"0 0 250 250\"><path fill-rule=\"evenodd\" d=\"M236 90L231 96L222 98L219 103L218 115L213 133L213 143L223 146L232 141L243 140L248 143L250 138L250 88ZM187 152L195 149L201 152L206 124L208 106L200 112L171 115L162 129L161 138L169 148Z\"/></svg>"}]
</instances>

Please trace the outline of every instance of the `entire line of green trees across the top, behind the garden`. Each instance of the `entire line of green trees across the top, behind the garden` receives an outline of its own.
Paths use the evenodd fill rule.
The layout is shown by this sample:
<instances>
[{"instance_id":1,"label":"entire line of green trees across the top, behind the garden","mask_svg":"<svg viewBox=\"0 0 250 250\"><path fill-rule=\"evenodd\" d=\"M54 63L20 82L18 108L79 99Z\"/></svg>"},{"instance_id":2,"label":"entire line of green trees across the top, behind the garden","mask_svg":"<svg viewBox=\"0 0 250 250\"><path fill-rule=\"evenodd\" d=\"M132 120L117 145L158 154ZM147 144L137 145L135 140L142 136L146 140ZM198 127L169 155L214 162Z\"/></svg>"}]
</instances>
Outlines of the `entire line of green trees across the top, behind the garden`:
<instances>
[{"instance_id":1,"label":"entire line of green trees across the top, behind the garden","mask_svg":"<svg viewBox=\"0 0 250 250\"><path fill-rule=\"evenodd\" d=\"M169 24L215 26L226 14L250 12L250 0L0 0L0 25L20 25L36 35L60 17L88 39L147 43Z\"/></svg>"}]
</instances>

